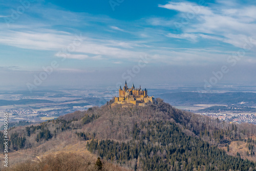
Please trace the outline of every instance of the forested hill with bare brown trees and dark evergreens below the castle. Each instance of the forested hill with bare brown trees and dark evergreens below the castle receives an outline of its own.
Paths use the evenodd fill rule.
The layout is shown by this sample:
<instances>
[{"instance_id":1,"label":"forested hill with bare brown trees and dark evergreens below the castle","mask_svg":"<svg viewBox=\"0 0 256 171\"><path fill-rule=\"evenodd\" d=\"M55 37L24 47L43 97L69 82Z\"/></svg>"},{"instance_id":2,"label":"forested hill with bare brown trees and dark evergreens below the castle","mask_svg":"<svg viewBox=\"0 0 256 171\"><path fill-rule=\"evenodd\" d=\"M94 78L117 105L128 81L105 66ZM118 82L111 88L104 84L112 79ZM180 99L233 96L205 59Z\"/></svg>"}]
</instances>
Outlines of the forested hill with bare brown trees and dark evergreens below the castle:
<instances>
[{"instance_id":1,"label":"forested hill with bare brown trees and dark evergreens below the castle","mask_svg":"<svg viewBox=\"0 0 256 171\"><path fill-rule=\"evenodd\" d=\"M249 157L255 158L255 133L254 125L220 122L157 99L144 107L104 105L14 128L10 146L18 151L37 149L39 153L48 150L41 148L44 144L68 144L75 137L88 141L84 148L102 160L133 170L247 171L256 170L256 164L240 153L230 156L224 149L229 151L232 141L246 142Z\"/></svg>"}]
</instances>

